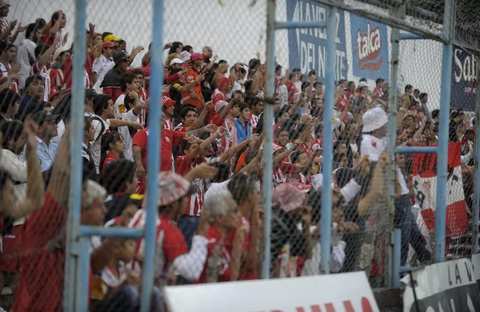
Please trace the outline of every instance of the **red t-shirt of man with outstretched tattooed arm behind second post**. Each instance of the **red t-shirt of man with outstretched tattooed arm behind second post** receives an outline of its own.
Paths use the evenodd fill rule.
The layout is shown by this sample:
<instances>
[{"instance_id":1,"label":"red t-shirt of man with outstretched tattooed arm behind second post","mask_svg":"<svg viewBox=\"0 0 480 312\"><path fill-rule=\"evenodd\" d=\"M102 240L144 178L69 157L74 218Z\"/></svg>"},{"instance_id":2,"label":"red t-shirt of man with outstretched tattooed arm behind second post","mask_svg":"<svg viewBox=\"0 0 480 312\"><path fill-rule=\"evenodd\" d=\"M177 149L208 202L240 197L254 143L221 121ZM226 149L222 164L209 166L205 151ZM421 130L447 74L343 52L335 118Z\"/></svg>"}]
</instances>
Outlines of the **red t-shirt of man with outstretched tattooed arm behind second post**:
<instances>
[{"instance_id":1,"label":"red t-shirt of man with outstretched tattooed arm behind second post","mask_svg":"<svg viewBox=\"0 0 480 312\"><path fill-rule=\"evenodd\" d=\"M132 140L132 146L136 145L142 150L142 164L147 169L147 141L150 131L148 127L137 132ZM180 142L185 138L186 132L174 130L162 130L162 147L160 155L160 171L171 171L173 169L172 149L173 141Z\"/></svg>"}]
</instances>

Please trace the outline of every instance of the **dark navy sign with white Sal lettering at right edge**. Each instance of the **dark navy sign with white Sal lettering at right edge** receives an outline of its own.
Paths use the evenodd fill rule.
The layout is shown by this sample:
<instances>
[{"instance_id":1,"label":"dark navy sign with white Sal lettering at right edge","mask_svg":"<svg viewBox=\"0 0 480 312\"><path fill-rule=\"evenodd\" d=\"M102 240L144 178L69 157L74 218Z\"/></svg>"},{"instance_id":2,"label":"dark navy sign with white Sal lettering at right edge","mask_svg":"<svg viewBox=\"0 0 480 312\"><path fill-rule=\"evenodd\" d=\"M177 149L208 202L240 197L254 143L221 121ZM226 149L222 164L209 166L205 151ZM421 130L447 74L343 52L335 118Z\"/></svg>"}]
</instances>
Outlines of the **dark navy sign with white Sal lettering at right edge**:
<instances>
[{"instance_id":1,"label":"dark navy sign with white Sal lettering at right edge","mask_svg":"<svg viewBox=\"0 0 480 312\"><path fill-rule=\"evenodd\" d=\"M479 59L473 54L454 48L452 56L452 107L475 111L478 96L477 68Z\"/></svg>"}]
</instances>

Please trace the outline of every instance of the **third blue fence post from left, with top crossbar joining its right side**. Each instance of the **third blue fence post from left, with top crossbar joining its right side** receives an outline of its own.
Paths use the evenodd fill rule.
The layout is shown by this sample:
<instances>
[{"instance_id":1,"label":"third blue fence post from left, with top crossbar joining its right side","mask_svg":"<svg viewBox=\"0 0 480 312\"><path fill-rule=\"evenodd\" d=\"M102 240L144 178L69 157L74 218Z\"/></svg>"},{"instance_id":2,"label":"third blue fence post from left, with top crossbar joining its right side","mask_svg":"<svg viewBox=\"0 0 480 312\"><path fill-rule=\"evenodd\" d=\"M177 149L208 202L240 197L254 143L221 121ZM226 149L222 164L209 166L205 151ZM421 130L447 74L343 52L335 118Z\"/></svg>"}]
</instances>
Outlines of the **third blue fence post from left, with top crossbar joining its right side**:
<instances>
[{"instance_id":1,"label":"third blue fence post from left, with top crossbar joining its right side","mask_svg":"<svg viewBox=\"0 0 480 312\"><path fill-rule=\"evenodd\" d=\"M267 1L267 97L273 98L275 93L275 0ZM263 139L263 159L265 162L264 172L273 170L273 105L265 105L263 112L263 124L265 138ZM270 234L272 231L272 192L273 183L270 174L262 177L263 186L263 209L265 210L264 224L264 258L262 266L262 278L270 278Z\"/></svg>"}]
</instances>

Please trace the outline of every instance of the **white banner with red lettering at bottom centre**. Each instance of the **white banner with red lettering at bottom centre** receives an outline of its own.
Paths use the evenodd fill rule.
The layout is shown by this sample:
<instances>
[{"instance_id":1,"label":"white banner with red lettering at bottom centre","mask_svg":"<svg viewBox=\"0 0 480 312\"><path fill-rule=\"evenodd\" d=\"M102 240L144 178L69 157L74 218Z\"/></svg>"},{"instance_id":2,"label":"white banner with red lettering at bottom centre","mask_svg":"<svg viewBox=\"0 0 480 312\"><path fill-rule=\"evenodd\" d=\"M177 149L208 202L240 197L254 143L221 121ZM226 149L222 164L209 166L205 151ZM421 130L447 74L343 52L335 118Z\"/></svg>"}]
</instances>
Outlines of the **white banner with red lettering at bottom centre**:
<instances>
[{"instance_id":1,"label":"white banner with red lettering at bottom centre","mask_svg":"<svg viewBox=\"0 0 480 312\"><path fill-rule=\"evenodd\" d=\"M171 312L380 311L365 272L169 286L164 294Z\"/></svg>"}]
</instances>

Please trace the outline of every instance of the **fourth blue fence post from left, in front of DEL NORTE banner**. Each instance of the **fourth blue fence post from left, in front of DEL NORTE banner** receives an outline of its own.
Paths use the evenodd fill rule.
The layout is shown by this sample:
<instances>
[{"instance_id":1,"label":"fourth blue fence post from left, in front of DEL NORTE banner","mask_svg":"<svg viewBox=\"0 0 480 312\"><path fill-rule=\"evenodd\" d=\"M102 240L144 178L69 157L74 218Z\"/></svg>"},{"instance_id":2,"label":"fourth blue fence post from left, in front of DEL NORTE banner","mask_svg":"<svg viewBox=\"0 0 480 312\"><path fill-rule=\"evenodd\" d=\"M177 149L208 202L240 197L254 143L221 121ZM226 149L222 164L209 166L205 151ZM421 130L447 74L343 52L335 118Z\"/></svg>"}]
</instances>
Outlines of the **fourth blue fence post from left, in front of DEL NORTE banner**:
<instances>
[{"instance_id":1,"label":"fourth blue fence post from left, in front of DEL NORTE banner","mask_svg":"<svg viewBox=\"0 0 480 312\"><path fill-rule=\"evenodd\" d=\"M324 142L323 145L323 186L322 186L322 224L320 246L322 249L321 272L330 273L331 228L332 228L332 156L333 156L333 110L335 91L335 49L336 49L336 7L331 7L327 21L327 68L325 74L324 104Z\"/></svg>"}]
</instances>

